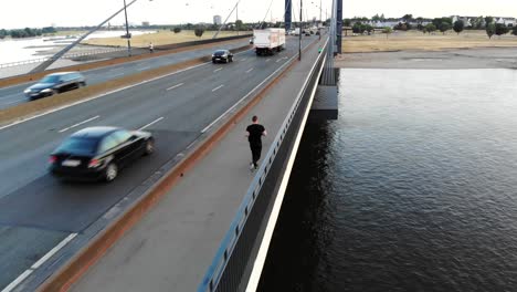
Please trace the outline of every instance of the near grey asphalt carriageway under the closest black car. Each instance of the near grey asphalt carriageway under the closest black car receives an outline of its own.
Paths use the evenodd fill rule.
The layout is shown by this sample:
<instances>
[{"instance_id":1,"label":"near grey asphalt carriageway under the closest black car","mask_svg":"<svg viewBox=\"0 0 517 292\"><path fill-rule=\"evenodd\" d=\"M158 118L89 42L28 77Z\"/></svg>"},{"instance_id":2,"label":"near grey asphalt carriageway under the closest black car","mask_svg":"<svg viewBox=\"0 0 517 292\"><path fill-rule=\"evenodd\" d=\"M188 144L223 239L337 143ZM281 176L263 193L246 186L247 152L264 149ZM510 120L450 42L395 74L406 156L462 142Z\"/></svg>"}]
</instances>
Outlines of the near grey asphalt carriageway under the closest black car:
<instances>
[{"instance_id":1,"label":"near grey asphalt carriageway under the closest black car","mask_svg":"<svg viewBox=\"0 0 517 292\"><path fill-rule=\"evenodd\" d=\"M303 45L315 39L305 38ZM271 58L245 51L233 63L204 64L1 129L0 139L8 143L0 144L0 289L63 239L86 232L114 205L141 191L163 164L296 53L297 41L288 39L286 50ZM145 127L156 137L156 153L108 185L50 177L52 149L73 132L97 125Z\"/></svg>"}]
</instances>

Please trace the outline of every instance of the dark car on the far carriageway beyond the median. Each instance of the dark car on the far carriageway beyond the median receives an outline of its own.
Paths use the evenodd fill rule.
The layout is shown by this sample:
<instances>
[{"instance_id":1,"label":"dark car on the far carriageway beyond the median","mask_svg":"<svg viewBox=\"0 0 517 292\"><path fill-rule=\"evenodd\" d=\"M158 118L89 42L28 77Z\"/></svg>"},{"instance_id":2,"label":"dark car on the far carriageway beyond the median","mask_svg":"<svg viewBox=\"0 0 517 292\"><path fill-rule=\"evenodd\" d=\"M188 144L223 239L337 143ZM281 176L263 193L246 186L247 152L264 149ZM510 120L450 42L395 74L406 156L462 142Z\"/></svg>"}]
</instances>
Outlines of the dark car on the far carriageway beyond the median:
<instances>
[{"instance_id":1,"label":"dark car on the far carriageway beyond the median","mask_svg":"<svg viewBox=\"0 0 517 292\"><path fill-rule=\"evenodd\" d=\"M78 72L60 72L44 76L24 93L29 100L38 100L57 93L67 92L86 85L86 80Z\"/></svg>"}]
</instances>

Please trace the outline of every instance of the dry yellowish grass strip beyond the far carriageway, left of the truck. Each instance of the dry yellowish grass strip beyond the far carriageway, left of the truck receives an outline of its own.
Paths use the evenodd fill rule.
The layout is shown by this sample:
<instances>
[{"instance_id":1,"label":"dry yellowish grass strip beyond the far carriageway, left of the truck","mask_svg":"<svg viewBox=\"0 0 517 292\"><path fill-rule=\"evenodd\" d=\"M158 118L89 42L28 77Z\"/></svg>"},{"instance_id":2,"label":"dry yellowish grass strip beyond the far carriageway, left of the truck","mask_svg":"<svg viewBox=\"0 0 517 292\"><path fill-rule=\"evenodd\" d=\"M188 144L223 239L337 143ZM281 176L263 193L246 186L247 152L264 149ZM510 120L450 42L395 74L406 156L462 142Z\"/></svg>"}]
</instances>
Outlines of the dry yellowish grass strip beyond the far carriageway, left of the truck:
<instances>
[{"instance_id":1,"label":"dry yellowish grass strip beyond the far carriageway, left of the truck","mask_svg":"<svg viewBox=\"0 0 517 292\"><path fill-rule=\"evenodd\" d=\"M207 40L212 39L214 31L205 31L201 38L196 36L193 30L182 30L179 33L175 33L170 30L160 30L152 33L139 34L134 35L131 38L131 45L138 48L147 48L150 42L154 45L165 45L165 44L172 44L172 43L181 43L181 42L190 42L190 41L199 41L199 40ZM243 31L239 34L250 34L250 31ZM219 38L224 36L233 36L238 35L238 32L233 31L221 31L219 33ZM114 45L114 46L125 46L127 45L127 40L117 38L95 38L83 41L82 43L85 44L94 44L94 45Z\"/></svg>"}]
</instances>

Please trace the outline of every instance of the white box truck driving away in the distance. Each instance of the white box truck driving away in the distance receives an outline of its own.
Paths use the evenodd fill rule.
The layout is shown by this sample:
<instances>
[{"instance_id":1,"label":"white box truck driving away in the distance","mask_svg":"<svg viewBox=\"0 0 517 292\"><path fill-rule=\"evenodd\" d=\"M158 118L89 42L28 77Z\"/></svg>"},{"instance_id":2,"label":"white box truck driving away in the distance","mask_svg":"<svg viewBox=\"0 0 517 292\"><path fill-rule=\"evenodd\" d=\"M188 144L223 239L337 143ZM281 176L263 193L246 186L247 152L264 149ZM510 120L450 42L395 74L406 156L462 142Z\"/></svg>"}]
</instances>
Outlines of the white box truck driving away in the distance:
<instances>
[{"instance_id":1,"label":"white box truck driving away in the distance","mask_svg":"<svg viewBox=\"0 0 517 292\"><path fill-rule=\"evenodd\" d=\"M284 29L253 30L256 55L272 55L285 48Z\"/></svg>"}]
</instances>

